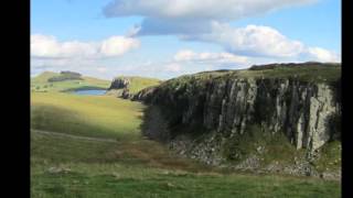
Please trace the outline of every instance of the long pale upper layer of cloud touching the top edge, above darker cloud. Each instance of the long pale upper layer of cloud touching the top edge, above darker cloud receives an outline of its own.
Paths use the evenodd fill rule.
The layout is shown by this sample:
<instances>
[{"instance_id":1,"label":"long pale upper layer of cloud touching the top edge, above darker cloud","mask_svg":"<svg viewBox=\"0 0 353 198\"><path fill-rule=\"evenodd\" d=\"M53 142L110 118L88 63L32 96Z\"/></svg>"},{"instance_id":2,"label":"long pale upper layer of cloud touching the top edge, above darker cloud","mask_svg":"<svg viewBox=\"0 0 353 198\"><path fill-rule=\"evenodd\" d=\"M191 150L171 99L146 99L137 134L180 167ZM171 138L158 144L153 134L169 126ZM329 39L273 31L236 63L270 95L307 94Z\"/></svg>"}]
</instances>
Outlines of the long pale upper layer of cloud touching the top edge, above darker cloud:
<instances>
[{"instance_id":1,"label":"long pale upper layer of cloud touching the top edge, above darker cloud","mask_svg":"<svg viewBox=\"0 0 353 198\"><path fill-rule=\"evenodd\" d=\"M143 15L154 19L237 20L315 0L114 0L106 16Z\"/></svg>"}]
</instances>

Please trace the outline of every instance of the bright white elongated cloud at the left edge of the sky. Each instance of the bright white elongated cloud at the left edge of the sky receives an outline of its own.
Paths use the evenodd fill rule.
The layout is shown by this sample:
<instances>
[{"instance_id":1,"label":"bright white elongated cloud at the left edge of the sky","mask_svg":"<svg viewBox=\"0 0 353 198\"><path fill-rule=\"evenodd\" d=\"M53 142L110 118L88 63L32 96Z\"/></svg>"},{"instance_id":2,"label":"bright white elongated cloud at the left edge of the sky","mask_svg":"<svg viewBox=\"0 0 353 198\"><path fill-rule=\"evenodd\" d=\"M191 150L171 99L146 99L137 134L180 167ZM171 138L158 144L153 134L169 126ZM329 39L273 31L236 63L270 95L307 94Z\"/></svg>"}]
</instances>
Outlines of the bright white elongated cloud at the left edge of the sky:
<instances>
[{"instance_id":1,"label":"bright white elongated cloud at the left edge of the sky","mask_svg":"<svg viewBox=\"0 0 353 198\"><path fill-rule=\"evenodd\" d=\"M31 35L31 56L38 58L113 57L138 48L137 38L111 36L100 42L60 42L54 36Z\"/></svg>"}]
</instances>

